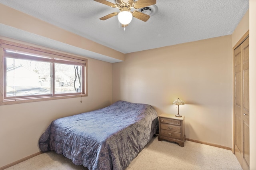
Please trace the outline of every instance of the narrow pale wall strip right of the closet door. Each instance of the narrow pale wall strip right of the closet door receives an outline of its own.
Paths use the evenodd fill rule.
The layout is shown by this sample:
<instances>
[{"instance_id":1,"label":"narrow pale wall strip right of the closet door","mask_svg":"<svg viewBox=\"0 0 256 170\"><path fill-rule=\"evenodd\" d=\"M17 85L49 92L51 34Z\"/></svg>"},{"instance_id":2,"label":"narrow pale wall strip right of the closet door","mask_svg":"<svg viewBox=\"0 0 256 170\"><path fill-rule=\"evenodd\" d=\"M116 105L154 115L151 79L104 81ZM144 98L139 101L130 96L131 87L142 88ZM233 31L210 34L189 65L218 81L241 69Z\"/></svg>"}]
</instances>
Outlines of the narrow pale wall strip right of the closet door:
<instances>
[{"instance_id":1,"label":"narrow pale wall strip right of the closet door","mask_svg":"<svg viewBox=\"0 0 256 170\"><path fill-rule=\"evenodd\" d=\"M256 0L249 0L250 169L256 170Z\"/></svg>"}]
</instances>

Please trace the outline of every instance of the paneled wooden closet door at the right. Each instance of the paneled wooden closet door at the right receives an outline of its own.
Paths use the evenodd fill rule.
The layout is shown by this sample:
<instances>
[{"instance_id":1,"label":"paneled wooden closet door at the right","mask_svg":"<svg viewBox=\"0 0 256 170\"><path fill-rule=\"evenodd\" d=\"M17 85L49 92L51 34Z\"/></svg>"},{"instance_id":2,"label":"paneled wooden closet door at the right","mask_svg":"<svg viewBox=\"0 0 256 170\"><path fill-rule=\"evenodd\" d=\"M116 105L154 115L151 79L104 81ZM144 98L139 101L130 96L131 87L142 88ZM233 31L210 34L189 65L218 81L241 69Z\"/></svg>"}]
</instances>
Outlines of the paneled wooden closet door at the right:
<instances>
[{"instance_id":1,"label":"paneled wooden closet door at the right","mask_svg":"<svg viewBox=\"0 0 256 170\"><path fill-rule=\"evenodd\" d=\"M249 37L234 49L234 153L249 169Z\"/></svg>"}]
</instances>

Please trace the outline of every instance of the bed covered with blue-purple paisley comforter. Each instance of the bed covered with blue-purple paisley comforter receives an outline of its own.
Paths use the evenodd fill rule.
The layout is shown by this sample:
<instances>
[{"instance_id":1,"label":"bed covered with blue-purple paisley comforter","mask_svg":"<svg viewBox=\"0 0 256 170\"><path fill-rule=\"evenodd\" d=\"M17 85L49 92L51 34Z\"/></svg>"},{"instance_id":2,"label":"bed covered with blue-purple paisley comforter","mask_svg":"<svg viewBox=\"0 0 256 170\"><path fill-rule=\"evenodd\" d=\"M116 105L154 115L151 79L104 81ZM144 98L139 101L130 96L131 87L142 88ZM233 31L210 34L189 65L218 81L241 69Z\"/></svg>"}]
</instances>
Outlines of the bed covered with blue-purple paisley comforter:
<instances>
[{"instance_id":1,"label":"bed covered with blue-purple paisley comforter","mask_svg":"<svg viewBox=\"0 0 256 170\"><path fill-rule=\"evenodd\" d=\"M53 121L39 139L89 170L124 170L158 130L158 115L147 104L116 103Z\"/></svg>"}]
</instances>

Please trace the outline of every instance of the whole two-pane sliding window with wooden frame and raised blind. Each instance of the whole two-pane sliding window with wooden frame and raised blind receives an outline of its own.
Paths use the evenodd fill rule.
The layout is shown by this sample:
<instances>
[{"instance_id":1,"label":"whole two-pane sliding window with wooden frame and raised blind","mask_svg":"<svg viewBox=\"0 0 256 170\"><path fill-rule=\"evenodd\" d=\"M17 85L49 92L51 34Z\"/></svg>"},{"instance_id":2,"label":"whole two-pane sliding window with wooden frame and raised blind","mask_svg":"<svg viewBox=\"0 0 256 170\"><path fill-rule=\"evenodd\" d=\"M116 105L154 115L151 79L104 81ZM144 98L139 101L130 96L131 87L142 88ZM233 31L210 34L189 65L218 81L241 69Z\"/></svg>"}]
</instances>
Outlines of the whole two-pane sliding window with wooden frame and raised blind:
<instances>
[{"instance_id":1,"label":"whole two-pane sliding window with wooden frame and raised blind","mask_svg":"<svg viewBox=\"0 0 256 170\"><path fill-rule=\"evenodd\" d=\"M1 105L86 96L87 59L0 42Z\"/></svg>"}]
</instances>

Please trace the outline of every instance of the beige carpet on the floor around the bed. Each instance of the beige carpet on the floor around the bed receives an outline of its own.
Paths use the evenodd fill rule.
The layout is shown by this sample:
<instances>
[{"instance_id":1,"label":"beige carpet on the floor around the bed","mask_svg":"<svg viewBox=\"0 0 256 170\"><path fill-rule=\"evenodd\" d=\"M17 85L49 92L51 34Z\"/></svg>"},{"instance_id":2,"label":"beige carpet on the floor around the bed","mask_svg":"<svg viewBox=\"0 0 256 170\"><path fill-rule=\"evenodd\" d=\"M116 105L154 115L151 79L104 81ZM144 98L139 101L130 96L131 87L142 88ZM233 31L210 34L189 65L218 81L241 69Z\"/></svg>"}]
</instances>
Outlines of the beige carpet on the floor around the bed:
<instances>
[{"instance_id":1,"label":"beige carpet on the floor around the bed","mask_svg":"<svg viewBox=\"0 0 256 170\"><path fill-rule=\"evenodd\" d=\"M6 170L87 170L55 152L46 152ZM186 141L176 143L153 139L126 170L242 170L231 150Z\"/></svg>"}]
</instances>

